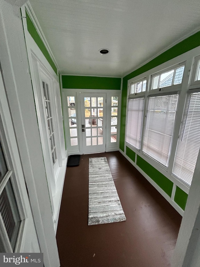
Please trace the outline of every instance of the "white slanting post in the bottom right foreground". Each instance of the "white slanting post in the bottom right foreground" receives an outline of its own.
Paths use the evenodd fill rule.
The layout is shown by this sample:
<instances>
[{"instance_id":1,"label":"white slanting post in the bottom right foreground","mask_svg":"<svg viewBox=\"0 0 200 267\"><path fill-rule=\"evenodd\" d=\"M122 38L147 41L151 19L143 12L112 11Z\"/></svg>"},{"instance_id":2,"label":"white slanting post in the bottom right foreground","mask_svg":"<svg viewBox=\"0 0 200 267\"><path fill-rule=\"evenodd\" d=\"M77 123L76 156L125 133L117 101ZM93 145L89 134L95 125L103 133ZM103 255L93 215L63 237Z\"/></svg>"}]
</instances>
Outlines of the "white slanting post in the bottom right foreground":
<instances>
[{"instance_id":1,"label":"white slanting post in the bottom right foreground","mask_svg":"<svg viewBox=\"0 0 200 267\"><path fill-rule=\"evenodd\" d=\"M200 152L183 215L172 267L200 266Z\"/></svg>"}]
</instances>

